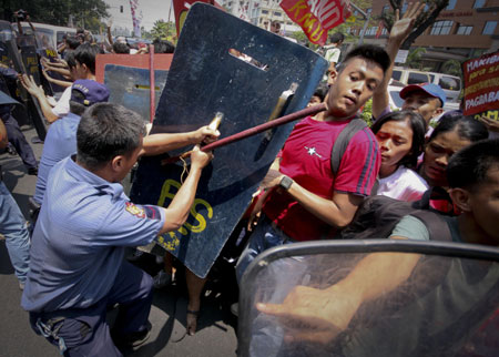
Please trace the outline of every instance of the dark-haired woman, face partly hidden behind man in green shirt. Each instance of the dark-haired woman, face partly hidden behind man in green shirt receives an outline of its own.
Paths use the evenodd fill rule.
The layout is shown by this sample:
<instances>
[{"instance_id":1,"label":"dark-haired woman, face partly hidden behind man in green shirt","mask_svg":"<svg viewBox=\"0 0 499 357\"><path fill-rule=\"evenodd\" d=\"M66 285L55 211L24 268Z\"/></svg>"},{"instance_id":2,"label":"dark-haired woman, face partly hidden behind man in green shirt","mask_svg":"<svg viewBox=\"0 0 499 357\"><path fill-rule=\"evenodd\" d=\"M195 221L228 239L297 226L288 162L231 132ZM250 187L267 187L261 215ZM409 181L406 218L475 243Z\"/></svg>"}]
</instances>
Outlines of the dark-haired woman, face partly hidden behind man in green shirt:
<instances>
[{"instance_id":1,"label":"dark-haired woman, face partly hidden behind man in green shirt","mask_svg":"<svg viewBox=\"0 0 499 357\"><path fill-rule=\"evenodd\" d=\"M419 174L430 186L447 187L446 169L450 156L488 136L487 128L479 121L462 114L445 114L426 145Z\"/></svg>"}]
</instances>

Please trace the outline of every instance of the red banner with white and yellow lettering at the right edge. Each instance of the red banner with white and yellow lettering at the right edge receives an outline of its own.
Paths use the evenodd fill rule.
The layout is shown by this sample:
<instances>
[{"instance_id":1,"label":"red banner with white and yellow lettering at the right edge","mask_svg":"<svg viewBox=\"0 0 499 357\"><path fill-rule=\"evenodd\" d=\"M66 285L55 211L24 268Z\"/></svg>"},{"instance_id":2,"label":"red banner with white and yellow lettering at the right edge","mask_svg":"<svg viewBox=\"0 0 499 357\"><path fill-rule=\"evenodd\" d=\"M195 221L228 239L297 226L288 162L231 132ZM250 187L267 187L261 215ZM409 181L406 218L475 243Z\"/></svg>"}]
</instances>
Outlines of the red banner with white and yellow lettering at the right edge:
<instances>
[{"instance_id":1,"label":"red banner with white and yellow lettering at the right edge","mask_svg":"<svg viewBox=\"0 0 499 357\"><path fill-rule=\"evenodd\" d=\"M499 106L499 52L483 54L462 63L465 115Z\"/></svg>"}]
</instances>

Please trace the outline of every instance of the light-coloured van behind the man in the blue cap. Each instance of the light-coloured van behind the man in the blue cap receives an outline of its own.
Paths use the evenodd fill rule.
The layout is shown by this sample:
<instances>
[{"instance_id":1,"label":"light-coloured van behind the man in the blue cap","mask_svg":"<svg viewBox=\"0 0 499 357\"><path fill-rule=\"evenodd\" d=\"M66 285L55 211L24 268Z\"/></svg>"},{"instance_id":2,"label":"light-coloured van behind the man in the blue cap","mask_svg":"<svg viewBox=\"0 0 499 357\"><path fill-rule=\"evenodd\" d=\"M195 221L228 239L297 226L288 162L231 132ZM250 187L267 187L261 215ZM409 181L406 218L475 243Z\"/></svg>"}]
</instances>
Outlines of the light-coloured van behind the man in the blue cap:
<instances>
[{"instance_id":1,"label":"light-coloured van behind the man in the blue cap","mask_svg":"<svg viewBox=\"0 0 499 357\"><path fill-rule=\"evenodd\" d=\"M461 92L461 79L456 75L424 72L396 67L391 74L390 85L405 86L407 84L434 83L440 85L449 102L458 102Z\"/></svg>"}]
</instances>

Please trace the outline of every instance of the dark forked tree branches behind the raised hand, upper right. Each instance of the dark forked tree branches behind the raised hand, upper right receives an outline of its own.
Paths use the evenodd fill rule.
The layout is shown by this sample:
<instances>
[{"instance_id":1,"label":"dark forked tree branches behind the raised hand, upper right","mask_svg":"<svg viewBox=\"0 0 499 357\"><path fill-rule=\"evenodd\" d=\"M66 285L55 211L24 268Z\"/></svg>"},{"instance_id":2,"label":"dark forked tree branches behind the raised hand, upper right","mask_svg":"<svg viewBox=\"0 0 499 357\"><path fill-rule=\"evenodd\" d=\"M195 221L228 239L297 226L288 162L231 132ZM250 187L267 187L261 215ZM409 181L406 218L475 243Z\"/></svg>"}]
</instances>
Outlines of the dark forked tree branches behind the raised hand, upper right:
<instances>
[{"instance_id":1,"label":"dark forked tree branches behind the raised hand, upper right","mask_svg":"<svg viewBox=\"0 0 499 357\"><path fill-rule=\"evenodd\" d=\"M393 11L386 11L381 14L380 20L383 21L385 28L388 32L391 30L391 26L395 21L395 11L399 10L401 13L405 0L389 0ZM441 10L447 8L449 0L425 0L424 1L428 8L422 11L421 14L416 19L414 31L408 35L406 41L401 44L401 50L408 50L413 42L428 29L435 20L438 18Z\"/></svg>"}]
</instances>

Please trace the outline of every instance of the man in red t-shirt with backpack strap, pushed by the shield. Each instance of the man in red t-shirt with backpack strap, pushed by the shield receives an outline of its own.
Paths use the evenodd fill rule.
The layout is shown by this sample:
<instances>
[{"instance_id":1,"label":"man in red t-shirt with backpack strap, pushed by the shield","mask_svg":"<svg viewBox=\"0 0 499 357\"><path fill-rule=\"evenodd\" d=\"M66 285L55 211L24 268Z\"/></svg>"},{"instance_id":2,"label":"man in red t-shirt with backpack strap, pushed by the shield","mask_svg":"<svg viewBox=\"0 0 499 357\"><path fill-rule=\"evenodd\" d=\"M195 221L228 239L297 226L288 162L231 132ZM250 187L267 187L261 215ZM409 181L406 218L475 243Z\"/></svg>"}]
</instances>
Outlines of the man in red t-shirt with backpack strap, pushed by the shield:
<instances>
[{"instance_id":1,"label":"man in red t-shirt with backpack strap, pushed by the shield","mask_svg":"<svg viewBox=\"0 0 499 357\"><path fill-rule=\"evenodd\" d=\"M367 128L357 132L336 175L330 170L330 153L336 137L373 96L389 64L381 48L357 47L346 55L329 89L327 112L296 124L263 181L264 191L252 213L253 217L262 211L262 216L237 263L238 279L263 251L320 239L332 228L350 223L378 174L376 137Z\"/></svg>"}]
</instances>

